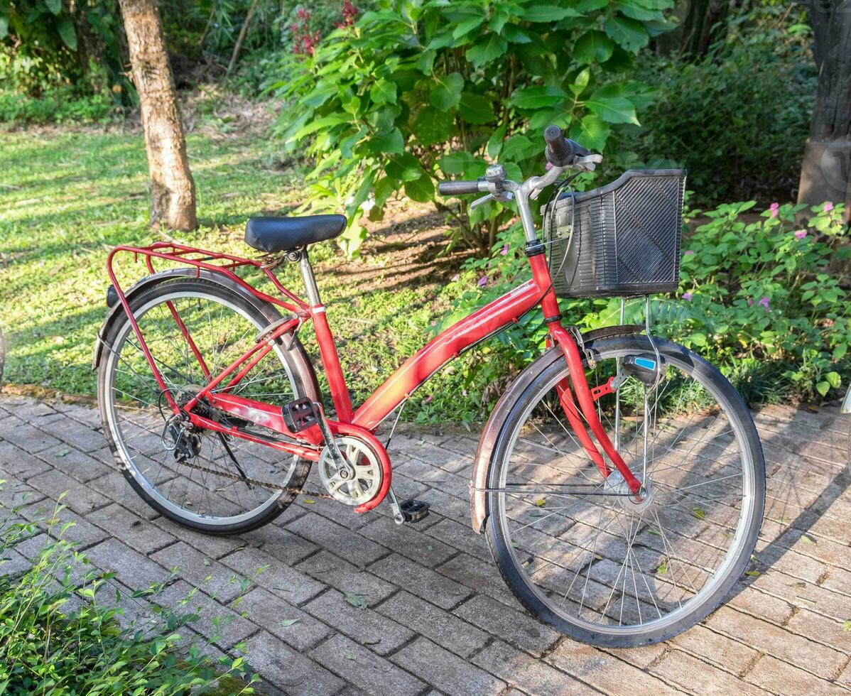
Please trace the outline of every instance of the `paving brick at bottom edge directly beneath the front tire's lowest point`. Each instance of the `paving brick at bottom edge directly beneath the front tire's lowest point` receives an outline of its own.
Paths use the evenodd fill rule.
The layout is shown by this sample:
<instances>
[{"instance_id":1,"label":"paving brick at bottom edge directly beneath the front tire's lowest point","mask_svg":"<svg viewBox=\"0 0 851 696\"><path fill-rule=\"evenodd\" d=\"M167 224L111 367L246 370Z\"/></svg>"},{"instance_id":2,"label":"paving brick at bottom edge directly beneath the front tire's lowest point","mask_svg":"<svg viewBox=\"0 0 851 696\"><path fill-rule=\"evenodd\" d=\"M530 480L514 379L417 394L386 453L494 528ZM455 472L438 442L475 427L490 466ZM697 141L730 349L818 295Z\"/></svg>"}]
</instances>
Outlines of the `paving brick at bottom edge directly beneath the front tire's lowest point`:
<instances>
[{"instance_id":1,"label":"paving brick at bottom edge directly beneath the front tire's lowest point","mask_svg":"<svg viewBox=\"0 0 851 696\"><path fill-rule=\"evenodd\" d=\"M624 685L629 685L630 693L677 693L659 678L597 648L574 641L559 643L546 662L605 693L621 693Z\"/></svg>"}]
</instances>

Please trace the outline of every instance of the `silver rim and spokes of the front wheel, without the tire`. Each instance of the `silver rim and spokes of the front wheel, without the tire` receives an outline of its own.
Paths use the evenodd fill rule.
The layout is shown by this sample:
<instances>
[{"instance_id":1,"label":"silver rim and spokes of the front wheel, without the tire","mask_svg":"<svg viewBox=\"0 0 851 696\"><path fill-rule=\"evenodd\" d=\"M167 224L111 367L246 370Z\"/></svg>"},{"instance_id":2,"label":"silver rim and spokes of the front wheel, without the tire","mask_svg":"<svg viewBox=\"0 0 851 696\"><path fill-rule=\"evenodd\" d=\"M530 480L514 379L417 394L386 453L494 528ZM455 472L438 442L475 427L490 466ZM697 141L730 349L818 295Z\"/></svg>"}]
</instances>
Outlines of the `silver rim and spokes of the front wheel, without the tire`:
<instances>
[{"instance_id":1,"label":"silver rim and spokes of the front wheel, without the tire","mask_svg":"<svg viewBox=\"0 0 851 696\"><path fill-rule=\"evenodd\" d=\"M614 358L636 354L653 357L652 353L645 354L634 349L608 351L597 362L595 374L590 375L591 385L605 381L607 362L614 363ZM699 373L699 370L693 370L687 362L674 355L665 354L663 358L666 362L666 379L656 392L661 397L655 409L657 431L648 436L651 441L655 436L656 447L655 452L652 448L648 452L651 458L648 462L648 478L654 491L654 503L643 511L637 511L624 505L628 500L625 497L563 496L565 490L580 490L574 488L574 482L603 489L598 483L603 481L603 476L596 465L586 455L581 459L575 456L580 447L567 432L569 426L563 412L558 412L552 408L551 402L547 402L547 395L551 395L555 385L567 375L566 367L553 370L533 401L523 409L508 440L505 449L507 465L500 467L496 485L505 489L506 484L512 483L511 476L522 473L527 482L523 487L523 495L491 493L506 552L510 554L523 585L556 617L593 634L628 638L653 631L661 635L675 632L679 622L702 608L708 612L717 602L719 590L726 590L726 586L735 579L731 580L731 576L737 577L740 572L737 567L740 566L742 550L747 544L748 531L755 514L757 479L751 449L734 415L720 408L716 414L708 411L702 416L693 414L690 421L687 419L683 427L676 430L658 427L660 424L666 425L664 416L660 419L659 411L660 407L671 402L665 397L666 393L670 395L671 385L675 384L675 380L670 377L671 370L689 378ZM614 368L608 372L614 374ZM621 387L624 393L629 391L626 384ZM665 385L668 385L668 392L663 391ZM682 386L678 391L686 395L688 392L683 391ZM719 406L727 402L717 386L708 380L700 380L700 391L703 392L702 396L710 396ZM691 398L696 396L701 395L693 391ZM614 399L614 396L611 398ZM550 400L557 405L557 401L551 397ZM613 436L614 423L607 417L607 404L604 399L597 403L603 425L607 426L609 436ZM653 401L649 403L652 414ZM677 407L681 412L682 404L680 402ZM628 414L628 409L625 410ZM534 418L531 421L529 419L536 412L545 412L552 418L553 411L561 416L562 425L565 426L559 428L557 433L548 433L541 425L534 423ZM611 414L611 408L608 414ZM709 438L701 440L696 435L697 426L706 418L711 421L704 424L710 425L710 429L704 433ZM725 421L720 423L725 427L719 429L719 421ZM622 433L625 430L624 422L622 419ZM676 420L672 422L677 423ZM530 423L531 426L527 425ZM555 425L554 419L551 425ZM530 442L529 432L536 435L538 442ZM678 438L677 433L685 436ZM550 442L546 442L547 436ZM723 442L719 438L729 441L724 448L719 449ZM639 439L643 441L643 436ZM541 442L545 443L545 448L555 448L557 452L541 448ZM569 448L564 442L569 443ZM658 456L660 445L665 443L671 444L671 447L668 447L667 452L662 450L663 454ZM728 451L732 447L731 443L735 445L734 450ZM691 452L683 452L681 445L688 445ZM641 466L637 466L635 451L623 438L620 451L626 464L640 475ZM695 479L696 471L683 471L695 451L709 464L705 467L708 471L704 472L708 478L698 480ZM563 470L557 476L564 488L540 485L544 476L553 473L553 467L542 466L545 457L539 452L545 454L546 458L557 457L557 466ZM572 459L565 457L565 454L573 455ZM639 448L638 454L643 464L643 447ZM711 465L713 454L717 454L715 467ZM700 462L700 459L691 459ZM573 462L573 471L568 470L568 461ZM734 469L737 469L737 475L730 473ZM678 476L683 483L673 487L671 474ZM593 483L595 481L597 483ZM719 484L722 484L719 490L730 491L735 488L739 493L727 495L726 498L718 496L709 499L703 495L706 489ZM538 490L549 493L536 494L534 499L530 499L536 485L540 486ZM558 491L562 493L554 493ZM666 505L666 501L674 501L674 504ZM736 506L736 522L734 525L720 524L719 520L729 517L727 508L730 503ZM616 553L619 539L622 549L620 557ZM689 554L683 557L682 550L686 546ZM713 549L714 554L710 552ZM710 556L718 559L717 562L711 562ZM665 590L664 597L662 590Z\"/></svg>"}]
</instances>

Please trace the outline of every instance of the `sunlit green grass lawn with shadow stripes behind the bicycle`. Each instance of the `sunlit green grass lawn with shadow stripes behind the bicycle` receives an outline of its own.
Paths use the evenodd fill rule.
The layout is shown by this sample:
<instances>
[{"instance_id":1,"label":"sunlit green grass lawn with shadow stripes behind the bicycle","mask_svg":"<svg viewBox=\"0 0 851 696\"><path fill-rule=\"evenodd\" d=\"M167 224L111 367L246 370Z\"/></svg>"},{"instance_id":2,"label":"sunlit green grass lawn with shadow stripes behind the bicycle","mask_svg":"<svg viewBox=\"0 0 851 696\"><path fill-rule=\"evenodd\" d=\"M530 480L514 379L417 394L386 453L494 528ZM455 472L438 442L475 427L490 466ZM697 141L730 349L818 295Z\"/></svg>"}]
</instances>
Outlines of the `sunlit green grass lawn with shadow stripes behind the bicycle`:
<instances>
[{"instance_id":1,"label":"sunlit green grass lawn with shadow stripes behind the bicycle","mask_svg":"<svg viewBox=\"0 0 851 696\"><path fill-rule=\"evenodd\" d=\"M285 214L297 205L298 173L271 167L272 146L256 137L212 140L191 134L187 145L201 226L174 238L253 253L243 244L245 220L252 214ZM407 223L404 210L401 220L397 215L401 231L388 234L386 225L382 233L377 226L363 260L348 263L331 246L313 254L357 402L425 342L451 300L443 281L457 271L460 257L438 258L439 231L431 241L421 242L421 234L413 239L428 226L420 221L421 210L414 214L420 219ZM117 244L166 237L147 221L140 133L3 133L0 322L9 344L9 384L94 396L91 352L106 315L106 256ZM301 292L294 265L281 274L288 287ZM131 263L129 256L124 260L121 282L129 285L144 275L144 265ZM302 332L309 348L311 338L309 330ZM461 390L459 379L437 379L420 391L419 407L409 407L405 417L481 419L485 414L476 402L462 408L460 395L447 393L449 382ZM425 402L432 394L437 396Z\"/></svg>"}]
</instances>

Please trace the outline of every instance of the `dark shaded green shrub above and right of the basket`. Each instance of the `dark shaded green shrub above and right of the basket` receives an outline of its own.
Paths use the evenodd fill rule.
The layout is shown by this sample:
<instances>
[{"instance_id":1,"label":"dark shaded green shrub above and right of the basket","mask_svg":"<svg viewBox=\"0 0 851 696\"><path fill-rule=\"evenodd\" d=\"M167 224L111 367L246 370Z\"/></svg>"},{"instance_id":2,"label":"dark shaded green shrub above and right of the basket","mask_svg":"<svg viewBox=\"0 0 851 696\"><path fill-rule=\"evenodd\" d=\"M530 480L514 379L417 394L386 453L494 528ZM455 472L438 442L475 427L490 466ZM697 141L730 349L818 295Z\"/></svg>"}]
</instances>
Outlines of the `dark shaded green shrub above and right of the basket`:
<instances>
[{"instance_id":1,"label":"dark shaded green shrub above and right of the basket","mask_svg":"<svg viewBox=\"0 0 851 696\"><path fill-rule=\"evenodd\" d=\"M818 83L811 41L801 12L778 5L731 22L696 62L645 52L632 75L655 99L609 166L688 168L701 205L792 199Z\"/></svg>"}]
</instances>

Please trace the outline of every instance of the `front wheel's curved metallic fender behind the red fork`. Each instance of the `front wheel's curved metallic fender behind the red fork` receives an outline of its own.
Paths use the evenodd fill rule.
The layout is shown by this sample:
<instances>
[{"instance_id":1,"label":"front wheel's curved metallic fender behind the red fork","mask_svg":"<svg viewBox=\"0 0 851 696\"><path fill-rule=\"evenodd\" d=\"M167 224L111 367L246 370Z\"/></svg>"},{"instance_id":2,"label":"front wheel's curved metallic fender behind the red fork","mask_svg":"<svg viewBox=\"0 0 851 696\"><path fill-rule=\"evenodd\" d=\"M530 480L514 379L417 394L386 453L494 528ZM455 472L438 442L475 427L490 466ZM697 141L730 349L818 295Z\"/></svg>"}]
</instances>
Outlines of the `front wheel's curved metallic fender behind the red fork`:
<instances>
[{"instance_id":1,"label":"front wheel's curved metallic fender behind the red fork","mask_svg":"<svg viewBox=\"0 0 851 696\"><path fill-rule=\"evenodd\" d=\"M642 328L634 324L599 328L582 334L582 339L585 343L591 343L595 339L637 334ZM496 447L500 432L505 426L505 420L508 419L508 415L511 413L511 407L538 375L544 372L546 368L549 368L553 362L563 358L564 353L562 349L555 346L548 349L541 357L529 365L528 368L517 375L517 379L511 383L505 394L501 396L500 401L497 402L493 412L490 414L487 425L484 426L482 439L479 440L479 446L476 452L476 460L473 462L473 471L470 480L470 518L473 531L477 534L482 533L484 523L488 519L488 500L484 489L487 488L488 484L490 459L494 454L494 448Z\"/></svg>"}]
</instances>

